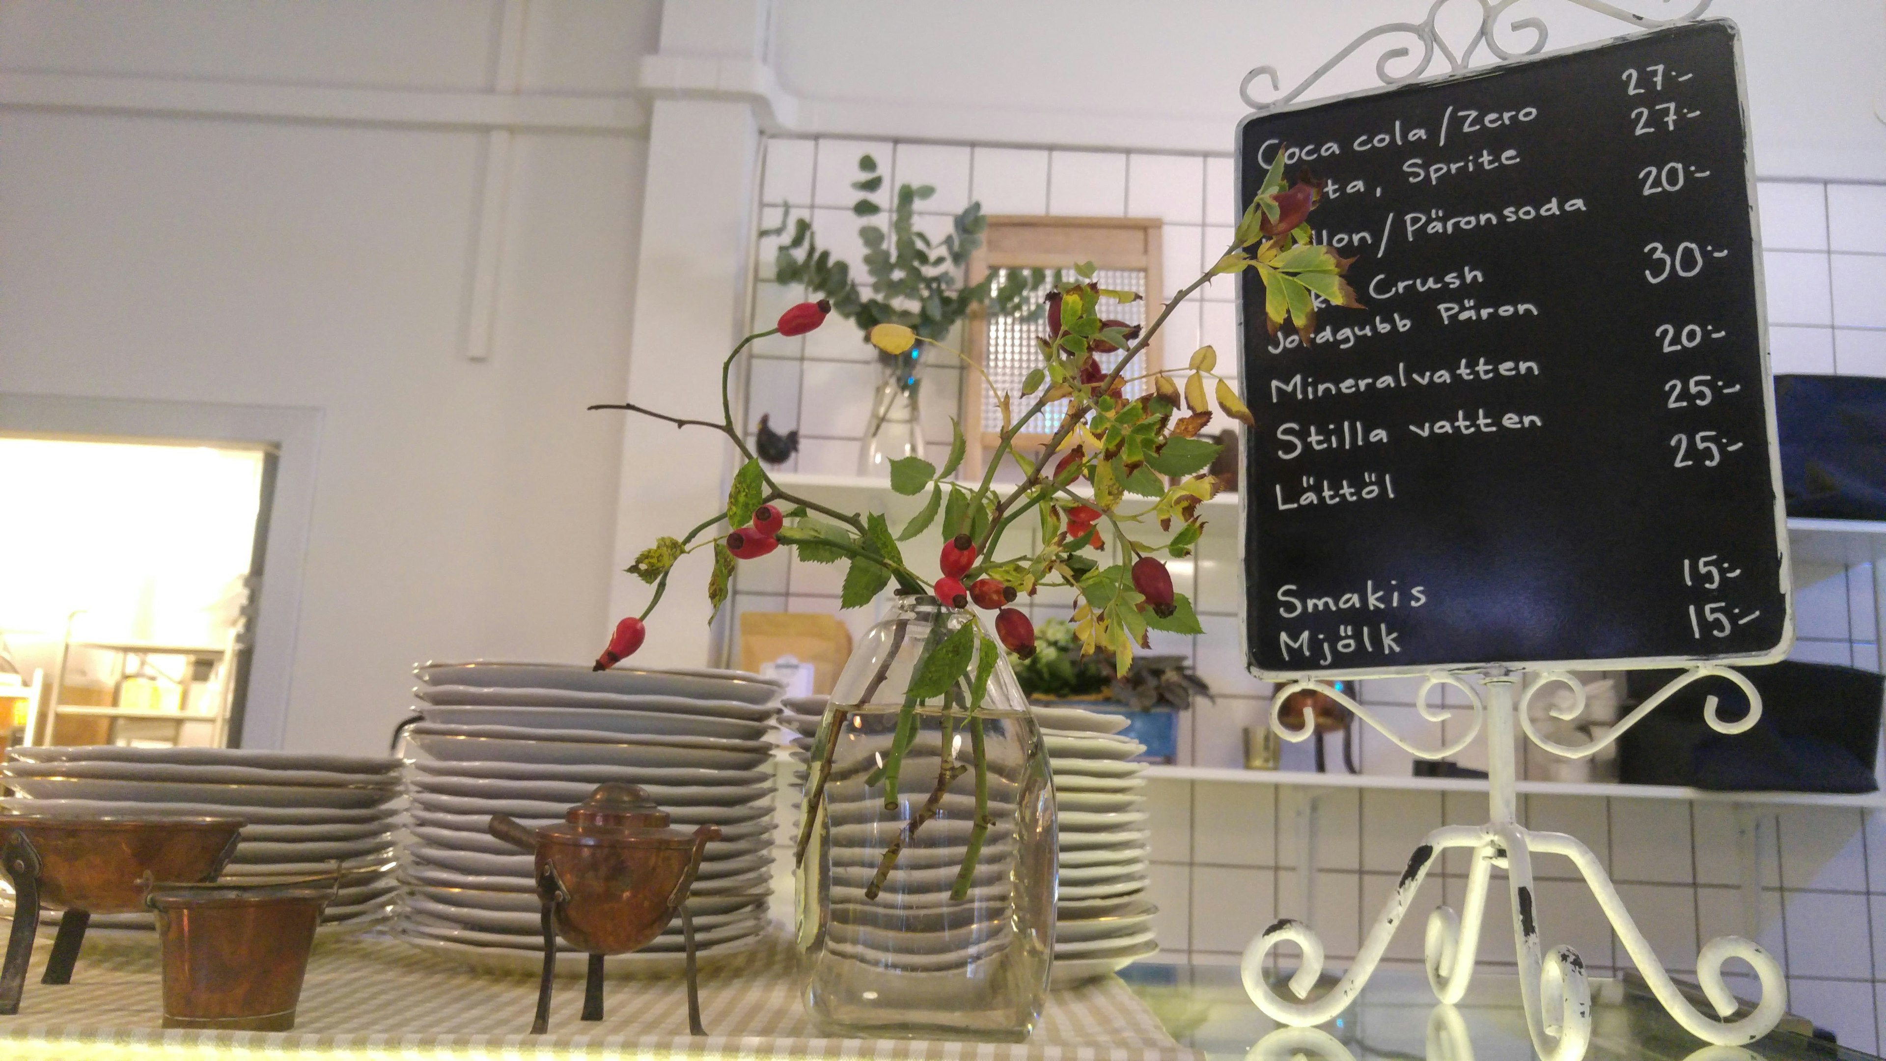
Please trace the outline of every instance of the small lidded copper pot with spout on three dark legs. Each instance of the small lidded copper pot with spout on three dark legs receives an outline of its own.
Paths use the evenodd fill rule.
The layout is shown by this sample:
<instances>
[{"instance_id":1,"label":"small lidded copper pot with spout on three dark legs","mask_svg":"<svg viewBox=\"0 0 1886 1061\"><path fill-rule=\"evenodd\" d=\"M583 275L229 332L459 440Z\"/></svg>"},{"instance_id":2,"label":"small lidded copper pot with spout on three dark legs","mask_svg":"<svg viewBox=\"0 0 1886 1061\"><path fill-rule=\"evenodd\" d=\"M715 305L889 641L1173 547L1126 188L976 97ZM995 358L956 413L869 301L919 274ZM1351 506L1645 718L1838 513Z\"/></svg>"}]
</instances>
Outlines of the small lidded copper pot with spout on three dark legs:
<instances>
[{"instance_id":1,"label":"small lidded copper pot with spout on three dark legs","mask_svg":"<svg viewBox=\"0 0 1886 1061\"><path fill-rule=\"evenodd\" d=\"M528 829L494 814L490 834L536 855L538 899L543 902L543 982L532 1033L549 1027L556 936L588 952L583 1019L602 1019L602 959L651 944L681 914L687 940L688 1025L700 1025L694 984L694 921L688 889L702 855L720 838L715 825L671 829L670 816L637 785L598 785L564 821Z\"/></svg>"}]
</instances>

